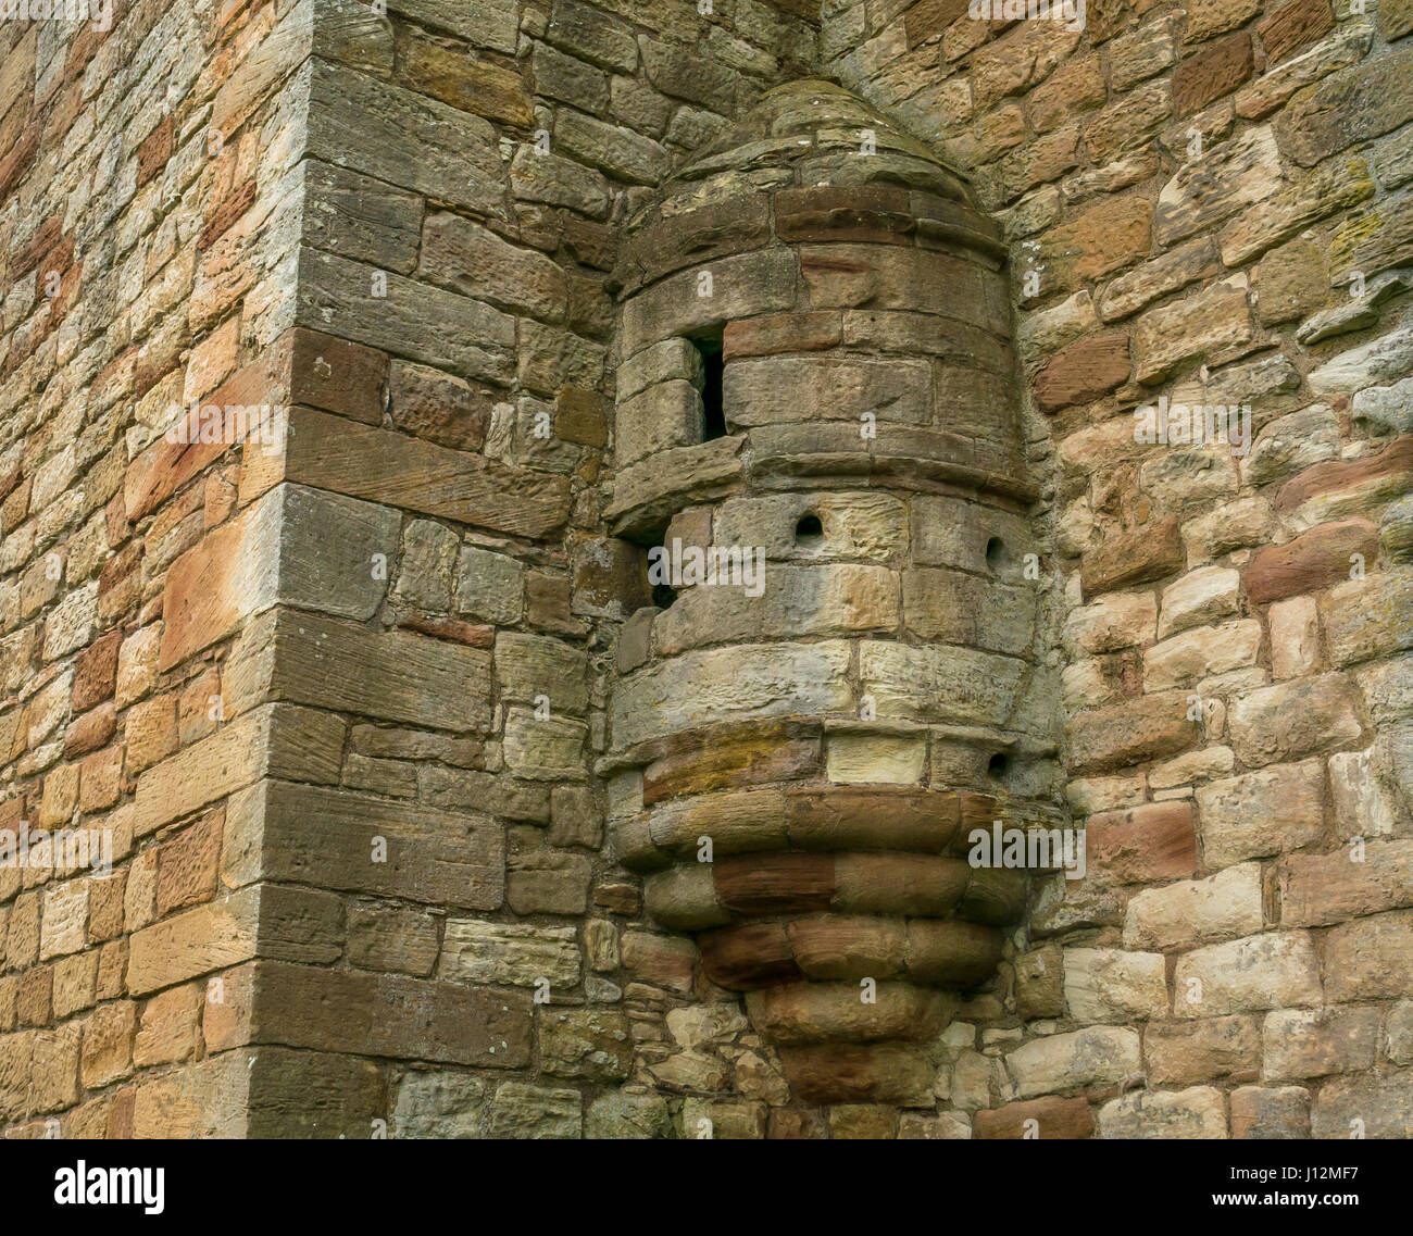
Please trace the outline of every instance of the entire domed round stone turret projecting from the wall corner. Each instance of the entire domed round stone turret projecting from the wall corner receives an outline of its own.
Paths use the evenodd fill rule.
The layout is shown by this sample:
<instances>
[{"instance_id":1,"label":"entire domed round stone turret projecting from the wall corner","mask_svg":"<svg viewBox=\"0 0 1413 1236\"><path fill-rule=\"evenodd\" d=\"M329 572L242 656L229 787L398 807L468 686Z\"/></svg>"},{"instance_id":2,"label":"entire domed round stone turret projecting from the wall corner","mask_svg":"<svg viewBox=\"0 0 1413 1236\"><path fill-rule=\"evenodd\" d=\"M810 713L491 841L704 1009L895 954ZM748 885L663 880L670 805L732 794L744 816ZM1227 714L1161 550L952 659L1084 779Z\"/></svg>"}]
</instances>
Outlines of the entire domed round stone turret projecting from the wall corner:
<instances>
[{"instance_id":1,"label":"entire domed round stone turret projecting from the wall corner","mask_svg":"<svg viewBox=\"0 0 1413 1236\"><path fill-rule=\"evenodd\" d=\"M644 545L759 549L766 576L682 581L625 629L613 852L798 1100L926 1100L957 993L1026 905L968 833L1063 822L1000 233L931 151L804 81L626 234L606 514Z\"/></svg>"}]
</instances>

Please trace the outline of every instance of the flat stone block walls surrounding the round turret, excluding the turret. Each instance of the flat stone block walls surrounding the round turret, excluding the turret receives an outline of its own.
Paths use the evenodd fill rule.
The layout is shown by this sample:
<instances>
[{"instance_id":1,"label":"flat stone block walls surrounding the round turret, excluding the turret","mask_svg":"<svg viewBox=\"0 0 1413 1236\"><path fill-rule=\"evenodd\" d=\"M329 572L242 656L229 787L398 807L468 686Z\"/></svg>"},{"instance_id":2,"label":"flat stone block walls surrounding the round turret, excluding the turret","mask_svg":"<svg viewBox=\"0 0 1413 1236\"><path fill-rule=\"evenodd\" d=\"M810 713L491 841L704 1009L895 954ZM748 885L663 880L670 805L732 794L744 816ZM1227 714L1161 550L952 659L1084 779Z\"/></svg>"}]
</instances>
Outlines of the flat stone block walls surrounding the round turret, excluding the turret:
<instances>
[{"instance_id":1,"label":"flat stone block walls surrounding the round turret, excluding the turret","mask_svg":"<svg viewBox=\"0 0 1413 1236\"><path fill-rule=\"evenodd\" d=\"M1349 3L0 23L0 828L114 859L0 866L7 1134L1407 1136L1413 11ZM666 530L622 518L627 223L808 73L1009 246L1088 824L901 1105L791 1095L603 759ZM1159 396L1249 404L1249 452L1136 444ZM791 725L773 767L851 780Z\"/></svg>"}]
</instances>

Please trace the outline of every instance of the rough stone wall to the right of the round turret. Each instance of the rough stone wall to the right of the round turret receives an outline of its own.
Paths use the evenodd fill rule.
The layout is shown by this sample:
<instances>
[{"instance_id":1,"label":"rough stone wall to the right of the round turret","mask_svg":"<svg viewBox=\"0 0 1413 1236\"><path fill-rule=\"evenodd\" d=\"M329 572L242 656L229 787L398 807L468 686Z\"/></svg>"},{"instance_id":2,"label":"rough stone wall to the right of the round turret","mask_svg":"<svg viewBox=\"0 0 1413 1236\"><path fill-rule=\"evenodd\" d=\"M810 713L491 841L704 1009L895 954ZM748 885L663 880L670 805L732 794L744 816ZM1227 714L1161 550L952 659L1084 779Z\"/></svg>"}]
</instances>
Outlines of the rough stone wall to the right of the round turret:
<instances>
[{"instance_id":1,"label":"rough stone wall to the right of the round turret","mask_svg":"<svg viewBox=\"0 0 1413 1236\"><path fill-rule=\"evenodd\" d=\"M1413 1130L1410 30L825 0L821 68L1006 229L1053 476L1089 876L1040 893L1012 1016L954 1065L974 1136ZM1136 442L1160 397L1249 407L1249 451Z\"/></svg>"}]
</instances>

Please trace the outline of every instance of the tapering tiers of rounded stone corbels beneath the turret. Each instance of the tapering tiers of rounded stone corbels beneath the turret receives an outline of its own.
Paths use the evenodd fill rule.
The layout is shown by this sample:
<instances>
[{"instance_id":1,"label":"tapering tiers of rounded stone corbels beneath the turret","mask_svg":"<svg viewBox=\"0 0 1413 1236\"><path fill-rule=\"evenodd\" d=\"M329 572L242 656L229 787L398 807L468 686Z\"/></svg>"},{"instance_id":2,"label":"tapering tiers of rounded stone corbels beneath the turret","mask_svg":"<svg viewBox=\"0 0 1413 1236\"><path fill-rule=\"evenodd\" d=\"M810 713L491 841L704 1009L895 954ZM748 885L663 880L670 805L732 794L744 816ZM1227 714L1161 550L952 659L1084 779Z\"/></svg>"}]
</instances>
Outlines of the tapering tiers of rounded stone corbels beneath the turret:
<instances>
[{"instance_id":1,"label":"tapering tiers of rounded stone corbels beneath the turret","mask_svg":"<svg viewBox=\"0 0 1413 1236\"><path fill-rule=\"evenodd\" d=\"M882 785L706 792L691 805L687 832L654 831L651 812L616 826L620 857L650 872L649 915L695 934L706 977L746 993L800 1100L917 1099L954 993L995 973L1026 904L1027 873L971 866L968 836L996 818L1057 818L985 794ZM661 846L630 849L654 832ZM729 853L697 862L702 836Z\"/></svg>"}]
</instances>

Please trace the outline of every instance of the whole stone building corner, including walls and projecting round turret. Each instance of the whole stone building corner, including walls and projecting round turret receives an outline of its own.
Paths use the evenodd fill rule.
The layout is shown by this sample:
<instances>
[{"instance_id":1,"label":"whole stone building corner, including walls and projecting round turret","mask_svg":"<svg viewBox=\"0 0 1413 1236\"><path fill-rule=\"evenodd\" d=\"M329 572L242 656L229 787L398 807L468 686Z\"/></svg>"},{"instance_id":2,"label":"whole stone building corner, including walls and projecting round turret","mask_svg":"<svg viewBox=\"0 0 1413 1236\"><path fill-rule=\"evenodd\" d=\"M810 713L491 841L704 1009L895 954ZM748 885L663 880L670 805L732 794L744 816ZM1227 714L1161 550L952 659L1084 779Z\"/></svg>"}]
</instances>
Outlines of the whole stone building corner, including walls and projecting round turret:
<instances>
[{"instance_id":1,"label":"whole stone building corner, including walls and projecting round turret","mask_svg":"<svg viewBox=\"0 0 1413 1236\"><path fill-rule=\"evenodd\" d=\"M0 30L7 1136L1406 1136L1406 6L387 7Z\"/></svg>"}]
</instances>

